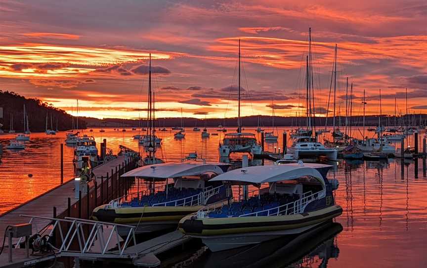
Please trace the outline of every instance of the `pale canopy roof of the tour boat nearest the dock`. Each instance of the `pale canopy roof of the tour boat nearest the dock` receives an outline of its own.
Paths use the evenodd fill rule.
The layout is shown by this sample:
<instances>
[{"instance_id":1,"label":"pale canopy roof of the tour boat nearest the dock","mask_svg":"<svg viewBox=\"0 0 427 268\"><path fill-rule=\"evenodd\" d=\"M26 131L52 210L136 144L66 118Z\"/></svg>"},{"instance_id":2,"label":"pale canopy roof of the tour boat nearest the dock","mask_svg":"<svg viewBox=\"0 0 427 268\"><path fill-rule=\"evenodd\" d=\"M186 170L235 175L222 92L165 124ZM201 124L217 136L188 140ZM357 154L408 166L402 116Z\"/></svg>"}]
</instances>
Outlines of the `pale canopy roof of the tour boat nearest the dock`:
<instances>
[{"instance_id":1,"label":"pale canopy roof of the tour boat nearest the dock","mask_svg":"<svg viewBox=\"0 0 427 268\"><path fill-rule=\"evenodd\" d=\"M226 170L228 166L230 165L225 163L164 163L136 168L120 177L168 179L182 176L199 176L208 172L219 175L224 173L223 170Z\"/></svg>"}]
</instances>

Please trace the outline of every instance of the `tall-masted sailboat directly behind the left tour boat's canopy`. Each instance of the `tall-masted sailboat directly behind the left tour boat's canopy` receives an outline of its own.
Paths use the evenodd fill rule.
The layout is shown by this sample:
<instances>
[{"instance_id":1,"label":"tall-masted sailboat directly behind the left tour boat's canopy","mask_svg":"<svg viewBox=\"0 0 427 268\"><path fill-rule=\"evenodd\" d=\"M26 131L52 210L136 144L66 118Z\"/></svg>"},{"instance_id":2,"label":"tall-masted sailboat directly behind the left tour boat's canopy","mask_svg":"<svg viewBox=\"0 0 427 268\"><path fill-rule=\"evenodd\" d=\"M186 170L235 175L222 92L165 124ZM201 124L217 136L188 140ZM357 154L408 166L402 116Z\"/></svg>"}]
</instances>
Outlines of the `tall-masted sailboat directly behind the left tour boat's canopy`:
<instances>
[{"instance_id":1,"label":"tall-masted sailboat directly behind the left tour boat's canopy","mask_svg":"<svg viewBox=\"0 0 427 268\"><path fill-rule=\"evenodd\" d=\"M139 143L143 144L148 152L146 158L144 158L144 164L157 164L163 163L161 159L155 157L156 147L162 142L162 139L155 135L154 129L154 92L151 89L151 53L148 67L148 101L147 101L147 133L141 136L138 140Z\"/></svg>"}]
</instances>

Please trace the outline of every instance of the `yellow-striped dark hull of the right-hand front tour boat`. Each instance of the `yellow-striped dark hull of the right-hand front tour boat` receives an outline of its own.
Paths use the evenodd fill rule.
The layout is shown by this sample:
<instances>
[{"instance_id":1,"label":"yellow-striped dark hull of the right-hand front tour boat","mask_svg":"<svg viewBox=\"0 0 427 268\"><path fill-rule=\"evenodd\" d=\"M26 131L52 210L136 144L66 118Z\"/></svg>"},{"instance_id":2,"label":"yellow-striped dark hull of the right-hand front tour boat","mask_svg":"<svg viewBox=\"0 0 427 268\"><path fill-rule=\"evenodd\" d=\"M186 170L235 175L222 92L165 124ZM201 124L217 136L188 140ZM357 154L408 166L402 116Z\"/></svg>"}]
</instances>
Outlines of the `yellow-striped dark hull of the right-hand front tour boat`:
<instances>
[{"instance_id":1,"label":"yellow-striped dark hull of the right-hand front tour boat","mask_svg":"<svg viewBox=\"0 0 427 268\"><path fill-rule=\"evenodd\" d=\"M308 213L285 216L181 219L178 229L201 238L211 251L238 248L281 236L298 234L342 214L338 205Z\"/></svg>"}]
</instances>

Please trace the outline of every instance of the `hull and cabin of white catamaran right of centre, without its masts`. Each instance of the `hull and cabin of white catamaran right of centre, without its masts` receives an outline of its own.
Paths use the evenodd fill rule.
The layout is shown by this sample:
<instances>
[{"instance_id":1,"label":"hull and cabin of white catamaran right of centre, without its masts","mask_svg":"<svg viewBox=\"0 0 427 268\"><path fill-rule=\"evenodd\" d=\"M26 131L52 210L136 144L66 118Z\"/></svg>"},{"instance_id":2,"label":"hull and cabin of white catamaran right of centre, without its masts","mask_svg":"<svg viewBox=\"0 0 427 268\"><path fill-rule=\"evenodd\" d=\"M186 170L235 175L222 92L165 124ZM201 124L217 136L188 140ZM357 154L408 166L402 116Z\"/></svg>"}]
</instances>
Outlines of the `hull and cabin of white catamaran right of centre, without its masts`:
<instances>
[{"instance_id":1,"label":"hull and cabin of white catamaran right of centre, without its masts","mask_svg":"<svg viewBox=\"0 0 427 268\"><path fill-rule=\"evenodd\" d=\"M311 136L294 137L289 152L294 154L295 159L323 157L329 160L337 160L338 157L336 148L325 148L322 143L317 142L316 138Z\"/></svg>"}]
</instances>

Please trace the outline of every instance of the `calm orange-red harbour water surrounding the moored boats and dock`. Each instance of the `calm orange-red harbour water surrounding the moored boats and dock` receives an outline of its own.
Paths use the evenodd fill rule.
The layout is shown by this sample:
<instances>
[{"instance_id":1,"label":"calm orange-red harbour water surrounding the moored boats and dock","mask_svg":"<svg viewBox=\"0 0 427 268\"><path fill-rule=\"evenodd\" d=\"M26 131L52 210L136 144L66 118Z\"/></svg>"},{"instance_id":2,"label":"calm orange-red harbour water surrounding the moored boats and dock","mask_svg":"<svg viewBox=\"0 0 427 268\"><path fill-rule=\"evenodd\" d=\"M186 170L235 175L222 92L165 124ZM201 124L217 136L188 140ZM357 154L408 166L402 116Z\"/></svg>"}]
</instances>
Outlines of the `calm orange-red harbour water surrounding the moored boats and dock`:
<instances>
[{"instance_id":1,"label":"calm orange-red harbour water surrounding the moored boats and dock","mask_svg":"<svg viewBox=\"0 0 427 268\"><path fill-rule=\"evenodd\" d=\"M199 156L217 161L217 146L223 134L216 129L210 132L218 136L202 139L201 132L187 129L185 138L176 140L171 131L158 132L163 138L158 157L178 162L197 151ZM98 144L106 138L107 146L115 153L122 144L144 155L137 140L132 138L138 131L106 129L105 133L99 133L93 129L93 133L85 134L93 134ZM11 137L0 135L0 142L6 145ZM0 164L0 213L59 184L59 146L64 138L65 133L31 134L25 150L4 149ZM420 146L421 139L422 135ZM269 151L282 148L281 137L278 143L266 143L265 147ZM73 178L72 158L73 148L64 146L65 180ZM340 181L335 194L337 204L343 208L335 225L319 229L309 238L261 244L245 252L205 252L190 266L217 267L222 262L230 267L427 267L426 160L340 160L330 164L334 168L328 176ZM293 246L286 247L287 243ZM257 258L248 257L254 256L252 251Z\"/></svg>"}]
</instances>

